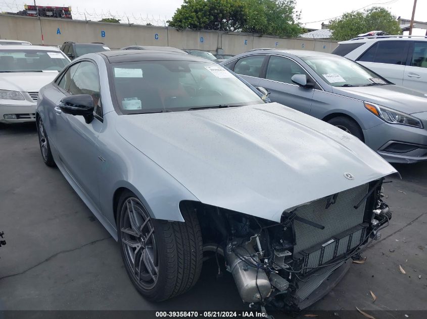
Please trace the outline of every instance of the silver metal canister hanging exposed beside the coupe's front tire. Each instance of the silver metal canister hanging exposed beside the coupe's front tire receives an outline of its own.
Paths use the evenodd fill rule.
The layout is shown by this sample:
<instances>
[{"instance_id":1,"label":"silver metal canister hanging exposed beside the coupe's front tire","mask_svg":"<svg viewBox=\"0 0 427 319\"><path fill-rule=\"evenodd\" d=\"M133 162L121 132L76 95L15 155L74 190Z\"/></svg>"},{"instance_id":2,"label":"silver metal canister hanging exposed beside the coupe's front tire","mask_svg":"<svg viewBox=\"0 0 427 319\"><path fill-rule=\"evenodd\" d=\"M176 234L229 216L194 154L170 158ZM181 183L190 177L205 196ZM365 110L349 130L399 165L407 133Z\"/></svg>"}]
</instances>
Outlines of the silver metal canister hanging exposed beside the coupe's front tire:
<instances>
[{"instance_id":1,"label":"silver metal canister hanging exposed beside the coupe's front tire","mask_svg":"<svg viewBox=\"0 0 427 319\"><path fill-rule=\"evenodd\" d=\"M260 263L251 243L242 243L241 246L234 247L234 250L248 264L256 266L255 261ZM243 301L259 302L269 295L271 284L264 270L251 267L239 259L234 251L231 251L230 244L225 251L225 258Z\"/></svg>"}]
</instances>

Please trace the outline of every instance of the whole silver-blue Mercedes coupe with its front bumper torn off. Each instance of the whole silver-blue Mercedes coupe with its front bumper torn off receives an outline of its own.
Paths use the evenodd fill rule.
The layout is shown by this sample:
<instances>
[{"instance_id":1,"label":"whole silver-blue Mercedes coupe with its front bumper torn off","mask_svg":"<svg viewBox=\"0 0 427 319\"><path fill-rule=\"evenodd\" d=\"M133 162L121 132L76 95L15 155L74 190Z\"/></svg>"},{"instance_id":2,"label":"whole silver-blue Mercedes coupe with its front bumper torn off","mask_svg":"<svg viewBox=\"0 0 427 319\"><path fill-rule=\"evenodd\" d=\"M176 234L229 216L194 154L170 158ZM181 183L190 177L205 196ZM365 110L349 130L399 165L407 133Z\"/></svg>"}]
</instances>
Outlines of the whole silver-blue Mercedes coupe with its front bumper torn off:
<instances>
[{"instance_id":1,"label":"whole silver-blue Mercedes coupe with its front bumper torn off","mask_svg":"<svg viewBox=\"0 0 427 319\"><path fill-rule=\"evenodd\" d=\"M381 184L396 170L255 91L215 62L146 50L88 54L40 91L43 161L119 241L147 299L193 287L205 252L252 308L303 308L388 224Z\"/></svg>"}]
</instances>

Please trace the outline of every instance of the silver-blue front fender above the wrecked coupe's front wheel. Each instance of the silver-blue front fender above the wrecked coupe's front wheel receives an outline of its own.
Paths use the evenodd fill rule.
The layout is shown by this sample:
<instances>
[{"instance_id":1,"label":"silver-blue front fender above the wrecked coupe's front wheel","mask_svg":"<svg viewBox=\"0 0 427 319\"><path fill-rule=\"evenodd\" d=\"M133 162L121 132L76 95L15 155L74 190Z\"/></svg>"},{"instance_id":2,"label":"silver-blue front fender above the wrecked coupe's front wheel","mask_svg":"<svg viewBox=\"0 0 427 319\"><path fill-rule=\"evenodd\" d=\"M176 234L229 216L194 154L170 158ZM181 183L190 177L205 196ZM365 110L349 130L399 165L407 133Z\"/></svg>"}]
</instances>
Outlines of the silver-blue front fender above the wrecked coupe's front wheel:
<instances>
[{"instance_id":1,"label":"silver-blue front fender above the wrecked coupe's front wheel","mask_svg":"<svg viewBox=\"0 0 427 319\"><path fill-rule=\"evenodd\" d=\"M105 159L100 171L100 205L112 225L116 225L113 201L117 190L129 189L156 219L184 221L179 211L183 200L199 201L163 168L141 153L108 126L114 125L115 112L104 117L98 147ZM114 127L114 126L113 126Z\"/></svg>"}]
</instances>

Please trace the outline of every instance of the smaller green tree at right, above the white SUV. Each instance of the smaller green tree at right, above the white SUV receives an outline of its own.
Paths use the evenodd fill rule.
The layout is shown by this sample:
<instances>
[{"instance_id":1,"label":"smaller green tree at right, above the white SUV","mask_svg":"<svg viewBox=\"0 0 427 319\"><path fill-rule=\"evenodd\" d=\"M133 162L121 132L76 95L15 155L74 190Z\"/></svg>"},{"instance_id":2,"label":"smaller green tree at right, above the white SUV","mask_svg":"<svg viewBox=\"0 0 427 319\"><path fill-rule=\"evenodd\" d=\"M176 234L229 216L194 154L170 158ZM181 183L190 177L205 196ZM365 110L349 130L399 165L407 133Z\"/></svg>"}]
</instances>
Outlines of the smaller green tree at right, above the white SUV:
<instances>
[{"instance_id":1,"label":"smaller green tree at right, above the white SUV","mask_svg":"<svg viewBox=\"0 0 427 319\"><path fill-rule=\"evenodd\" d=\"M358 34L374 30L389 34L402 33L396 17L382 7L372 7L363 12L348 12L329 23L329 28L333 31L332 38L338 41L350 40Z\"/></svg>"}]
</instances>

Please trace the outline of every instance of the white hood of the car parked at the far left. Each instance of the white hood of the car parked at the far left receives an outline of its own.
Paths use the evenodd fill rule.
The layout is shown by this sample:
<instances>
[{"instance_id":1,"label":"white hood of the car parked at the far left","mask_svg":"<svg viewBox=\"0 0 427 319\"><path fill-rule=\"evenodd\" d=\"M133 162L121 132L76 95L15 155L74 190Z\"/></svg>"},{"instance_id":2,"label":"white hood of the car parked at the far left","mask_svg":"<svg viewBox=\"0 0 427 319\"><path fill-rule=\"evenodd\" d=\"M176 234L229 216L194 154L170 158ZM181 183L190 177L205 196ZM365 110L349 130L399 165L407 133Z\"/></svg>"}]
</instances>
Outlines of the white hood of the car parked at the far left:
<instances>
[{"instance_id":1,"label":"white hood of the car parked at the far left","mask_svg":"<svg viewBox=\"0 0 427 319\"><path fill-rule=\"evenodd\" d=\"M58 72L0 73L0 90L38 92L57 75Z\"/></svg>"}]
</instances>

